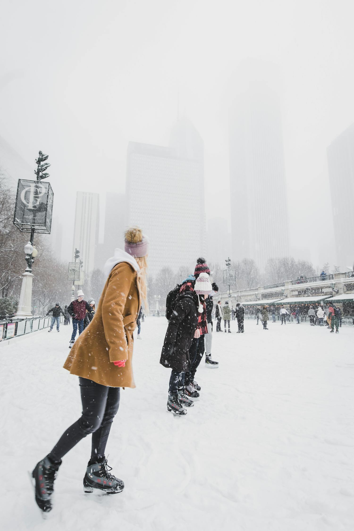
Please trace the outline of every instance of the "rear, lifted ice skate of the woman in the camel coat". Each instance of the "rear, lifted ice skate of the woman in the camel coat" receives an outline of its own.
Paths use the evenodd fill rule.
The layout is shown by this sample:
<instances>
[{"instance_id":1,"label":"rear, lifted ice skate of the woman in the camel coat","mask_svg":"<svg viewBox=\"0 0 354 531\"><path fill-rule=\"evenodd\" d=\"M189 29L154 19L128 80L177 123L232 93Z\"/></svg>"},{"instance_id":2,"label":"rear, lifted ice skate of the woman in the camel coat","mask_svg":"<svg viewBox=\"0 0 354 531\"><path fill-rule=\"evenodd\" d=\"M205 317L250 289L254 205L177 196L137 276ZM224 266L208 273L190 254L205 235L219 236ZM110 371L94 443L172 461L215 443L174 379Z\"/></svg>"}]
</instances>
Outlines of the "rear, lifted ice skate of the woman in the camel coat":
<instances>
[{"instance_id":1,"label":"rear, lifted ice skate of the woman in the camel coat","mask_svg":"<svg viewBox=\"0 0 354 531\"><path fill-rule=\"evenodd\" d=\"M61 464L62 461L54 464L48 457L45 457L37 463L32 471L34 498L42 512L51 511L51 495L54 491L54 480Z\"/></svg>"}]
</instances>

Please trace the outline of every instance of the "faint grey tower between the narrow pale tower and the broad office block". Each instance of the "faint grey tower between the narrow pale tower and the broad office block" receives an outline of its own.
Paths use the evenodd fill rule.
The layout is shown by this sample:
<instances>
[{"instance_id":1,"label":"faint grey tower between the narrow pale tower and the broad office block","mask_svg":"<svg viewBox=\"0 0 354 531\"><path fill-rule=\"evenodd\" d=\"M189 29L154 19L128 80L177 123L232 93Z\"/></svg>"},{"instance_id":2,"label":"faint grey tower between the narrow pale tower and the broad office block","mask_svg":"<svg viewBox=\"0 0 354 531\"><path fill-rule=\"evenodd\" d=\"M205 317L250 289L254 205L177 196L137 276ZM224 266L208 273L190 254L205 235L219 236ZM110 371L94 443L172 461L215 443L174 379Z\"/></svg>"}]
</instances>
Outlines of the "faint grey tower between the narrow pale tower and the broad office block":
<instances>
[{"instance_id":1,"label":"faint grey tower between the narrow pale tower and the broad office block","mask_svg":"<svg viewBox=\"0 0 354 531\"><path fill-rule=\"evenodd\" d=\"M105 235L94 255L94 267L103 270L116 247L124 250L125 194L107 192L105 210Z\"/></svg>"}]
</instances>

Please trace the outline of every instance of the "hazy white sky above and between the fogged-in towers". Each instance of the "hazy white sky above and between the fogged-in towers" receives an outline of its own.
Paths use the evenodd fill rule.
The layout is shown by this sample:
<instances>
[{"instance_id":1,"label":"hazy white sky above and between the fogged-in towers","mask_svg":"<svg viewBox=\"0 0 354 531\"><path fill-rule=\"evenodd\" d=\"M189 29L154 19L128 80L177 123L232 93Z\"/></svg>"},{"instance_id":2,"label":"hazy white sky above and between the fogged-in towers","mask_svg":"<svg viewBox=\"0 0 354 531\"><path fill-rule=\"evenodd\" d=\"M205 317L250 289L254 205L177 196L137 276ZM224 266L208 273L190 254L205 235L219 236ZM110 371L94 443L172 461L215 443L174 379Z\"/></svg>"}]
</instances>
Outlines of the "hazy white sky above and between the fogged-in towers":
<instances>
[{"instance_id":1,"label":"hazy white sky above and between the fogged-in towers","mask_svg":"<svg viewBox=\"0 0 354 531\"><path fill-rule=\"evenodd\" d=\"M204 139L207 216L229 218L230 78L242 59L269 61L291 245L331 262L326 147L354 122L353 15L352 0L2 0L0 135L31 166L49 153L68 228L76 190L124 191L129 140L168 142L179 90Z\"/></svg>"}]
</instances>

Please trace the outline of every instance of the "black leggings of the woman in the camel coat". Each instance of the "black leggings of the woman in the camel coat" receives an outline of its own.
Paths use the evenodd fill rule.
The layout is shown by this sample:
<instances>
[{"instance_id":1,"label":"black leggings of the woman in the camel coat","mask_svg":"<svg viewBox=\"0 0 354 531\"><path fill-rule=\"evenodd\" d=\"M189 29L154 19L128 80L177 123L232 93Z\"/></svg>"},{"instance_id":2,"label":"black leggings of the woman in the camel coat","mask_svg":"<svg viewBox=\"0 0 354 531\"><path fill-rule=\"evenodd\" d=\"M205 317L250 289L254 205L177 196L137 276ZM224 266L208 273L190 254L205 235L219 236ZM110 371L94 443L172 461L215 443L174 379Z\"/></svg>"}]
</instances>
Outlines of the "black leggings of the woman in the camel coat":
<instances>
[{"instance_id":1,"label":"black leggings of the woman in the camel coat","mask_svg":"<svg viewBox=\"0 0 354 531\"><path fill-rule=\"evenodd\" d=\"M82 416L63 433L49 453L48 457L55 462L89 433L92 433L91 460L105 456L110 427L119 407L120 388L101 386L86 378L79 381Z\"/></svg>"}]
</instances>

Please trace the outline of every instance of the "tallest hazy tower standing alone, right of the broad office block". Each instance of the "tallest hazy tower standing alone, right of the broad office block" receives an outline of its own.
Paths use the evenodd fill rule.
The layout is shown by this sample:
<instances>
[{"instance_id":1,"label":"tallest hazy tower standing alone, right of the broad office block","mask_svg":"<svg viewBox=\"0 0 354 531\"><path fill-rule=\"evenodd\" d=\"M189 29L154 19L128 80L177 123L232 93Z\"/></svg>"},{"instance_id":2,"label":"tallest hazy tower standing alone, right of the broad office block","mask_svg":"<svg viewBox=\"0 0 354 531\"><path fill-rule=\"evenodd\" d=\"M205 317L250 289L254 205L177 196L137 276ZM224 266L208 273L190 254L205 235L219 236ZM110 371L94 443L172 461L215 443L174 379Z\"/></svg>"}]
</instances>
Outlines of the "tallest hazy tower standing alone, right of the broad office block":
<instances>
[{"instance_id":1,"label":"tallest hazy tower standing alone, right of the broad office block","mask_svg":"<svg viewBox=\"0 0 354 531\"><path fill-rule=\"evenodd\" d=\"M267 65L239 68L229 115L232 259L289 253L287 191L281 113L267 82Z\"/></svg>"}]
</instances>

